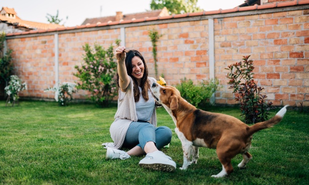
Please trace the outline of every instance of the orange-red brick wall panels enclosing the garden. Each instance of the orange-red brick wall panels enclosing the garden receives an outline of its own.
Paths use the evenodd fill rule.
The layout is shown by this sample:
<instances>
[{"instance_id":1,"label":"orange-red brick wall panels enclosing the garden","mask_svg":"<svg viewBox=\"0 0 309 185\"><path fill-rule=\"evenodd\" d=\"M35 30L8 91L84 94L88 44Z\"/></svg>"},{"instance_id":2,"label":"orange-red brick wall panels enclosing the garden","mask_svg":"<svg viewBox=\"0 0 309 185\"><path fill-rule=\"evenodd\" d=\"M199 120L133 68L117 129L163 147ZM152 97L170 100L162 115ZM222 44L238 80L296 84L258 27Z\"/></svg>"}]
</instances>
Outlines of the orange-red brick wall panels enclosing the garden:
<instances>
[{"instance_id":1,"label":"orange-red brick wall panels enclosing the garden","mask_svg":"<svg viewBox=\"0 0 309 185\"><path fill-rule=\"evenodd\" d=\"M202 16L201 16L202 17ZM146 59L150 76L154 76L151 29L162 34L157 45L158 74L167 84L175 85L181 78L194 82L209 79L208 19L156 21L154 25L136 24L125 27L129 49L139 50ZM106 28L105 28L106 29ZM76 81L74 65L83 60L82 46L97 42L107 48L120 39L120 29L107 29L59 34L59 80ZM53 98L43 90L54 84L54 41L52 36L8 39L14 50L17 75L29 84L21 96ZM263 14L231 14L214 18L215 77L222 88L215 94L217 104L235 104L228 89L227 65L251 55L255 79L265 88L268 100L275 105L309 106L309 9ZM41 78L39 80L39 77ZM80 91L76 98L87 92Z\"/></svg>"}]
</instances>

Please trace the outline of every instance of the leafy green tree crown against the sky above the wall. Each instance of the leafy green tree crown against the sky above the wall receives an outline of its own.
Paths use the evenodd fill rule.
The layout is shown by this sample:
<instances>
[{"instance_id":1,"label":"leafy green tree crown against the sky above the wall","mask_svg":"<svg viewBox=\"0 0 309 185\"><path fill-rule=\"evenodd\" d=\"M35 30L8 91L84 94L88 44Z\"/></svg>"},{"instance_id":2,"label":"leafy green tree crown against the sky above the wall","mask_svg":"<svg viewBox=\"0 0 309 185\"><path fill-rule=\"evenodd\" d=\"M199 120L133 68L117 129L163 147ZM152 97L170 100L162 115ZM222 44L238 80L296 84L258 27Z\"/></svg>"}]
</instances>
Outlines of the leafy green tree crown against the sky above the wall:
<instances>
[{"instance_id":1,"label":"leafy green tree crown against the sky above the wall","mask_svg":"<svg viewBox=\"0 0 309 185\"><path fill-rule=\"evenodd\" d=\"M168 9L169 14L192 13L202 11L196 5L198 0L152 0L150 8L162 9L164 6Z\"/></svg>"}]
</instances>

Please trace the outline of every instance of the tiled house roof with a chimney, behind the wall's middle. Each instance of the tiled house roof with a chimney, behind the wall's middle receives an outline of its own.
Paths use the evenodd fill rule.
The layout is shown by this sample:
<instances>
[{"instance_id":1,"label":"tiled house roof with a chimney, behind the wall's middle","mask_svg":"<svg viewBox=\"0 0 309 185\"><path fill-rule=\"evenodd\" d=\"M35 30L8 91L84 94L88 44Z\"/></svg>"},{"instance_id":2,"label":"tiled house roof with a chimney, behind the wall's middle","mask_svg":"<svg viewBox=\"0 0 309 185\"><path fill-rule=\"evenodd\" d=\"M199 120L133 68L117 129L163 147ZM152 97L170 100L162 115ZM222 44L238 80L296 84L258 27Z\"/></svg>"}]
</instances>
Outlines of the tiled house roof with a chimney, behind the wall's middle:
<instances>
[{"instance_id":1,"label":"tiled house roof with a chimney, behind the wall's middle","mask_svg":"<svg viewBox=\"0 0 309 185\"><path fill-rule=\"evenodd\" d=\"M122 15L122 12L120 12ZM153 11L146 11L146 12L141 12L141 13L132 13L132 14L124 14L120 19L123 21L130 21L130 20L135 20L135 19L142 19L145 17L158 17L158 16L167 16L168 10L166 7L163 9L158 9L158 10L153 10ZM104 22L109 22L109 21L116 21L117 20L117 15L116 16L108 16L108 17L97 17L97 18L86 18L82 25L89 25L89 24L97 24L98 22L104 23Z\"/></svg>"}]
</instances>

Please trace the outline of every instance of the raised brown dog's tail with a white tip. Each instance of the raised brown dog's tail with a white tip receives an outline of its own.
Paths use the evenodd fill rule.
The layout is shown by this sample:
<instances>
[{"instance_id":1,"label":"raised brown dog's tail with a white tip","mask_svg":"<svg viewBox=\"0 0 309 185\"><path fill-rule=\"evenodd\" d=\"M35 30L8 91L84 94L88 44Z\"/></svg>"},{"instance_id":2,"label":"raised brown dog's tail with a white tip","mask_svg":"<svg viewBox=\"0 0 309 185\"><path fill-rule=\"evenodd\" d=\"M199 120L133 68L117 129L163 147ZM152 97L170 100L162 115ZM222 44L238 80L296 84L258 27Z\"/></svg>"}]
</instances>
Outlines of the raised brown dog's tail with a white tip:
<instances>
[{"instance_id":1,"label":"raised brown dog's tail with a white tip","mask_svg":"<svg viewBox=\"0 0 309 185\"><path fill-rule=\"evenodd\" d=\"M252 135L262 129L273 127L275 124L279 123L286 114L288 106L289 105L284 106L272 119L265 122L255 123L250 126L248 130L249 135Z\"/></svg>"}]
</instances>

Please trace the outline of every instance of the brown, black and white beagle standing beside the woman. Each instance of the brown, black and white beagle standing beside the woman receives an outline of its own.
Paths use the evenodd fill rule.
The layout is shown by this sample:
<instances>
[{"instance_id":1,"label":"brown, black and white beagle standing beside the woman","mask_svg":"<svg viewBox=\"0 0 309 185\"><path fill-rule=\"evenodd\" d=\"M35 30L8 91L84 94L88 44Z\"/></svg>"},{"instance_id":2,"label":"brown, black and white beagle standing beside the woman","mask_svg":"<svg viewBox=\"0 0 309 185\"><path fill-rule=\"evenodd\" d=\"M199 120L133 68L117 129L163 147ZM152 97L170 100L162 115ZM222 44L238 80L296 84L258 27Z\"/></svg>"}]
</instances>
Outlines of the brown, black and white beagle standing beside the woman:
<instances>
[{"instance_id":1,"label":"brown, black and white beagle standing beside the woman","mask_svg":"<svg viewBox=\"0 0 309 185\"><path fill-rule=\"evenodd\" d=\"M224 177L233 172L231 159L237 154L243 156L238 167L245 168L252 159L252 155L248 152L252 135L279 123L286 114L288 106L282 108L272 119L248 126L229 115L196 109L180 96L180 92L175 87L163 87L153 83L151 90L156 101L165 108L176 125L175 132L183 150L183 165L180 170L185 170L189 165L197 163L199 147L212 148L216 149L222 164L222 171L211 176L215 178ZM190 161L191 156L192 161Z\"/></svg>"}]
</instances>

